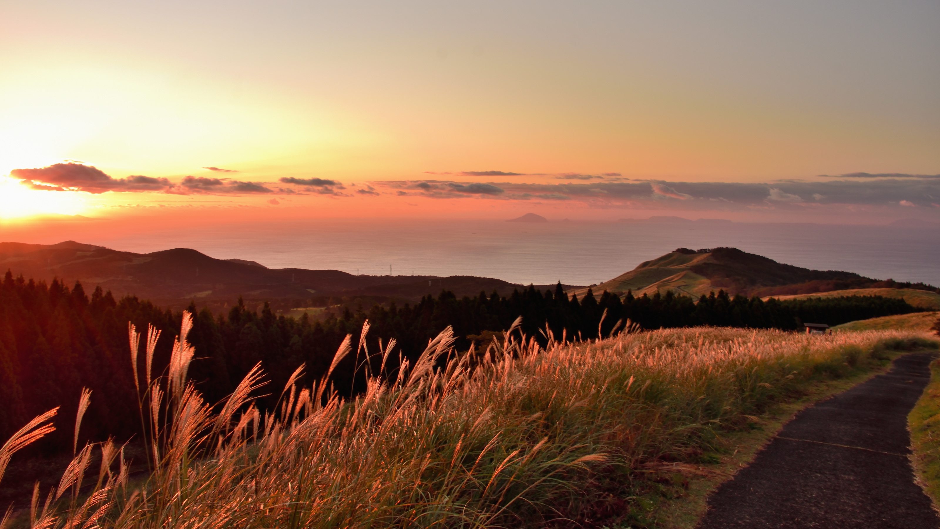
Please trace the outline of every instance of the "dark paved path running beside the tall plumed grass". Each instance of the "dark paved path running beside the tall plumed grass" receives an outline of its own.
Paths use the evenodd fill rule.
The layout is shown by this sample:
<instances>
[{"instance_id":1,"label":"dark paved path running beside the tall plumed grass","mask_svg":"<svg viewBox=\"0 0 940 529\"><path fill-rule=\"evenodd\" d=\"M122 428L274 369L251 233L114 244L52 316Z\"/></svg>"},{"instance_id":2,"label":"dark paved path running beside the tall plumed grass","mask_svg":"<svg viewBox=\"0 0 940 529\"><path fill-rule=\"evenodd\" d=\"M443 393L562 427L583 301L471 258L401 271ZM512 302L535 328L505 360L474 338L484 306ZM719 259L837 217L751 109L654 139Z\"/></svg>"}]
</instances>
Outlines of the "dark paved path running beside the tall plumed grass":
<instances>
[{"instance_id":1,"label":"dark paved path running beside the tall plumed grass","mask_svg":"<svg viewBox=\"0 0 940 529\"><path fill-rule=\"evenodd\" d=\"M700 529L937 529L914 482L907 414L930 381L932 353L799 413L754 462L709 498Z\"/></svg>"}]
</instances>

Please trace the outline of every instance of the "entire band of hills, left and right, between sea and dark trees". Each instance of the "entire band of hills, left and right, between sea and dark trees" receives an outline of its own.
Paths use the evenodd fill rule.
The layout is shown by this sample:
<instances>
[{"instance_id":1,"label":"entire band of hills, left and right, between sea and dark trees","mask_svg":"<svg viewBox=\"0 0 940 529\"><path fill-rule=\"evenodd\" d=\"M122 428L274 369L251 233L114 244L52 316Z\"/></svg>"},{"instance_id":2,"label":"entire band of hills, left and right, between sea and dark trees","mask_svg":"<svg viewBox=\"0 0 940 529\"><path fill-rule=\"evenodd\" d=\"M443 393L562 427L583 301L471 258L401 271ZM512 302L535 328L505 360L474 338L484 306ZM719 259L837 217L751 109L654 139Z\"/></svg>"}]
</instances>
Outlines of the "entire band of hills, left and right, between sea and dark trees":
<instances>
[{"instance_id":1,"label":"entire band of hills, left and right, between sea and dark trees","mask_svg":"<svg viewBox=\"0 0 940 529\"><path fill-rule=\"evenodd\" d=\"M270 301L276 312L286 313L338 303L368 306L417 301L442 290L457 297L473 297L480 291L508 295L514 289L527 288L475 276L369 276L339 270L268 268L244 259L215 259L192 248L141 254L75 241L55 245L0 243L0 268L37 281L82 281L87 287L101 286L117 296L148 298L176 310L197 300L213 312L227 309L238 297ZM556 285L532 286L539 291L556 289ZM718 290L766 298L908 289L922 293L915 297L924 297L924 306L940 307L940 288L932 285L881 281L839 270L811 270L737 248L677 248L590 287L598 294L608 291L623 296L632 292L642 296L672 291L696 298ZM582 296L588 287L562 288Z\"/></svg>"}]
</instances>

